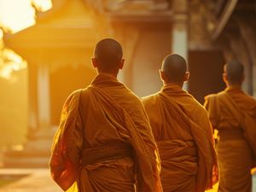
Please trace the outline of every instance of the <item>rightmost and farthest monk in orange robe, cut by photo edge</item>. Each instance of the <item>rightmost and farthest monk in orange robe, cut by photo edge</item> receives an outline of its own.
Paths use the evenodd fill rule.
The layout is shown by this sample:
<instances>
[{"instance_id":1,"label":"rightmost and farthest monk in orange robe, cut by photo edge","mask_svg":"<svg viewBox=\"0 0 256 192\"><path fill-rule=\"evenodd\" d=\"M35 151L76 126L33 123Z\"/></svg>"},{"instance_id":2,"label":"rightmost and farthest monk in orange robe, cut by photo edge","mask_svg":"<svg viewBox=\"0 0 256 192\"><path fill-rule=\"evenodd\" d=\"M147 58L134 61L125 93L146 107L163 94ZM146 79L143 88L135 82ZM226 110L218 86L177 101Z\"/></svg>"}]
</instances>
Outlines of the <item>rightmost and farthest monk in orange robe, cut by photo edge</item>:
<instances>
[{"instance_id":1,"label":"rightmost and farthest monk in orange robe, cut by photo edge","mask_svg":"<svg viewBox=\"0 0 256 192\"><path fill-rule=\"evenodd\" d=\"M256 100L241 90L241 62L228 62L223 79L227 88L205 98L212 127L218 131L218 191L250 192L253 154L256 157Z\"/></svg>"}]
</instances>

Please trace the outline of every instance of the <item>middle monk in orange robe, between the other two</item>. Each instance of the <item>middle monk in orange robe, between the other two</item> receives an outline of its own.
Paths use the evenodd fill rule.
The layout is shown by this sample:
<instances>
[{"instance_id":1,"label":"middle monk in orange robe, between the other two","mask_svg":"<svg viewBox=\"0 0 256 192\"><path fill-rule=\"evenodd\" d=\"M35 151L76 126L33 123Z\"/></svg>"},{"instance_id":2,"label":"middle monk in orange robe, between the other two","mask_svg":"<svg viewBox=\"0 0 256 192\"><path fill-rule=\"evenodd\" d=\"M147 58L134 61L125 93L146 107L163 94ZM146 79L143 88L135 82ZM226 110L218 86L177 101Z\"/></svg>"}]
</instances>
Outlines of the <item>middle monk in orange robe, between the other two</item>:
<instances>
[{"instance_id":1,"label":"middle monk in orange robe, between the other two","mask_svg":"<svg viewBox=\"0 0 256 192\"><path fill-rule=\"evenodd\" d=\"M160 151L164 192L202 192L218 181L212 126L207 111L182 89L189 79L186 61L167 55L162 62L160 92L143 104Z\"/></svg>"}]
</instances>

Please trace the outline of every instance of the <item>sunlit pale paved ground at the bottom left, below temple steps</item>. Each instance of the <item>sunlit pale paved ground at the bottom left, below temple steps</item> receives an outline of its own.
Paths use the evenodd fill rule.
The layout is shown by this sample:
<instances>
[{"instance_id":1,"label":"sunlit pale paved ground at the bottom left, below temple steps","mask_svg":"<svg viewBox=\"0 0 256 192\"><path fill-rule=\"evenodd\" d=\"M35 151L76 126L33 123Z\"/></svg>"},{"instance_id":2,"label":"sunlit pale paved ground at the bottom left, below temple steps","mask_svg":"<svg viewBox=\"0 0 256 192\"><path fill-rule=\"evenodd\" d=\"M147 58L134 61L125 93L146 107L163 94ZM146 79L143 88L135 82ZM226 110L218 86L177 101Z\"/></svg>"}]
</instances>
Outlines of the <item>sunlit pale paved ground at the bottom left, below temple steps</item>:
<instances>
[{"instance_id":1,"label":"sunlit pale paved ground at the bottom left, below temple steps","mask_svg":"<svg viewBox=\"0 0 256 192\"><path fill-rule=\"evenodd\" d=\"M14 183L9 183L0 192L61 192L51 180L48 169L0 169L1 175L27 175ZM216 192L215 189L207 192ZM256 192L256 175L253 177L253 192Z\"/></svg>"}]
</instances>

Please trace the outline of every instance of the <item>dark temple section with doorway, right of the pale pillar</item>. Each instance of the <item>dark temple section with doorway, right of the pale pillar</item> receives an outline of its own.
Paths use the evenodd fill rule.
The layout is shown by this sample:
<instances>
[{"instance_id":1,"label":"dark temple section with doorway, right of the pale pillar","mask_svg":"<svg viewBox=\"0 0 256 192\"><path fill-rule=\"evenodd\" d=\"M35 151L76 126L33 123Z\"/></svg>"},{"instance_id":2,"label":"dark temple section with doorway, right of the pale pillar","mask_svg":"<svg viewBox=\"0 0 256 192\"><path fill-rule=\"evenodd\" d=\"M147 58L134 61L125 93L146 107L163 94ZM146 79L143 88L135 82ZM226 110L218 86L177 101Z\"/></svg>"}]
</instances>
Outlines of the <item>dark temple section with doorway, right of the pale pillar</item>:
<instances>
[{"instance_id":1,"label":"dark temple section with doorway, right of the pale pillar","mask_svg":"<svg viewBox=\"0 0 256 192\"><path fill-rule=\"evenodd\" d=\"M245 66L243 90L256 96L256 2L195 0L189 5L190 92L203 96L224 88L222 70L232 59Z\"/></svg>"}]
</instances>

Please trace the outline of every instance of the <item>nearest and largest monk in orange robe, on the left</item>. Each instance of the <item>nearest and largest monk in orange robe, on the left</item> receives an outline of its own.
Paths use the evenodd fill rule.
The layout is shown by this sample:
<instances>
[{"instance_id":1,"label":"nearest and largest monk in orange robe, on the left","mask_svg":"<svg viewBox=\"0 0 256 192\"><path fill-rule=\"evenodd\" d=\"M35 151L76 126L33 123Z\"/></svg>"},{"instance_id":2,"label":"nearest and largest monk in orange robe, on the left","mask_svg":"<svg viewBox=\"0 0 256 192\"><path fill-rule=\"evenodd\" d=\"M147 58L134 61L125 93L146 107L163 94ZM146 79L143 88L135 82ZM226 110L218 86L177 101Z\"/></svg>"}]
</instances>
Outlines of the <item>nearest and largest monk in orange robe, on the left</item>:
<instances>
[{"instance_id":1,"label":"nearest and largest monk in orange robe, on the left","mask_svg":"<svg viewBox=\"0 0 256 192\"><path fill-rule=\"evenodd\" d=\"M160 192L160 159L143 103L119 83L121 45L96 44L90 86L68 96L55 133L51 176L65 191Z\"/></svg>"}]
</instances>

